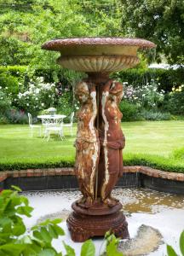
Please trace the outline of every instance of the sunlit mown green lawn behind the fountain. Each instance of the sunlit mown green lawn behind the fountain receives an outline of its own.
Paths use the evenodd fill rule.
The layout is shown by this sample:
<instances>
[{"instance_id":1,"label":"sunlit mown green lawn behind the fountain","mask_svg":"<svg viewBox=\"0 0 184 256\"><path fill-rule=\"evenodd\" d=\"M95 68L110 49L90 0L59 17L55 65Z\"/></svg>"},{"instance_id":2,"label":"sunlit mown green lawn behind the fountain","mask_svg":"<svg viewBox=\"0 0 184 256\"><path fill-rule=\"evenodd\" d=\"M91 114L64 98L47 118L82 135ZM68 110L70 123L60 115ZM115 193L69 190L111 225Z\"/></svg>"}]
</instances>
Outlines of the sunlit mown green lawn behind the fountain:
<instances>
[{"instance_id":1,"label":"sunlit mown green lawn behind the fountain","mask_svg":"<svg viewBox=\"0 0 184 256\"><path fill-rule=\"evenodd\" d=\"M127 122L122 123L122 128L126 137L125 161L133 158L158 158L168 162L172 159L174 149L184 147L184 121ZM75 124L73 135L76 130ZM0 125L0 167L11 164L8 167L14 169L16 163L26 163L29 167L29 163L73 162L75 136L70 137L67 128L64 133L65 140L60 141L54 135L46 142L43 137L37 136L37 130L34 130L34 136L31 137L28 125ZM172 159L172 163L179 164L184 169L183 160Z\"/></svg>"}]
</instances>

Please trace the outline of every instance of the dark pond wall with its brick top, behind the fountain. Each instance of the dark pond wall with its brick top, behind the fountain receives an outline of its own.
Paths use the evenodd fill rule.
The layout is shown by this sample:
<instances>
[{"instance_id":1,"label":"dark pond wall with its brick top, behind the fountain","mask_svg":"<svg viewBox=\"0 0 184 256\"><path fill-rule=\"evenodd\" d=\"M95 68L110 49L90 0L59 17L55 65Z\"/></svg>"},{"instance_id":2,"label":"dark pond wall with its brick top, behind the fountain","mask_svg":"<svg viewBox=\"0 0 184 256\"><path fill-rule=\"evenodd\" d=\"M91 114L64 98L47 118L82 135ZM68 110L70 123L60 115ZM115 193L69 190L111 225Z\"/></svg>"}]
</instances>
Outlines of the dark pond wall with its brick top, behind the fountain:
<instances>
[{"instance_id":1,"label":"dark pond wall with its brick top, behind the fountain","mask_svg":"<svg viewBox=\"0 0 184 256\"><path fill-rule=\"evenodd\" d=\"M11 184L22 190L77 189L73 167L0 172L0 189ZM184 173L164 172L147 166L124 166L118 187L147 187L184 195Z\"/></svg>"}]
</instances>

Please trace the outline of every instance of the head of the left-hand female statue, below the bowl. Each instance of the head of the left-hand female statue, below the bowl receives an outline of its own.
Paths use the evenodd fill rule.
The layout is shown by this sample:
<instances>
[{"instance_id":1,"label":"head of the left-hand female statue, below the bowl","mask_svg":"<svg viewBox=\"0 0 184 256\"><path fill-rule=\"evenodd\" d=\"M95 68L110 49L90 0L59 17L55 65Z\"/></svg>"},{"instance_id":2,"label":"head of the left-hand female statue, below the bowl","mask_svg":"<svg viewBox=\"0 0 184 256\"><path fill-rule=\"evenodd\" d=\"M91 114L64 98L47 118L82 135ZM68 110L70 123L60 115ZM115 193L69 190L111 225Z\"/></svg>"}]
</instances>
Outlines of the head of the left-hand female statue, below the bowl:
<instances>
[{"instance_id":1,"label":"head of the left-hand female statue, below the bowl","mask_svg":"<svg viewBox=\"0 0 184 256\"><path fill-rule=\"evenodd\" d=\"M78 97L78 101L81 103L89 100L89 86L85 82L79 82L75 88L75 95Z\"/></svg>"}]
</instances>

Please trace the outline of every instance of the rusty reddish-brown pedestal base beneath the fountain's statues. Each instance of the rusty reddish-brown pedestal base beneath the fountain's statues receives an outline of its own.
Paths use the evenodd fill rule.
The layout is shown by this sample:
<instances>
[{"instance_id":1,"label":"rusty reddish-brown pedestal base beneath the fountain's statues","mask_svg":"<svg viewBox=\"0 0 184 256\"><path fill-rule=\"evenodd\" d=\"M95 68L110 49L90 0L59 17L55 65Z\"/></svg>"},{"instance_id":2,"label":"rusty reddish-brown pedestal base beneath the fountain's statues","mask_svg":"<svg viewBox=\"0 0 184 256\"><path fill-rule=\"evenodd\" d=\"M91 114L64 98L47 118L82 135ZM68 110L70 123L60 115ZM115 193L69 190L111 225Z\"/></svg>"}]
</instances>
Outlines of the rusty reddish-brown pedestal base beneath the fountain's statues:
<instances>
[{"instance_id":1,"label":"rusty reddish-brown pedestal base beneath the fountain's statues","mask_svg":"<svg viewBox=\"0 0 184 256\"><path fill-rule=\"evenodd\" d=\"M115 236L122 239L129 238L128 224L124 213L120 211L122 205L107 207L103 203L96 203L85 209L72 204L74 212L67 218L67 226L71 232L72 241L86 241L93 236L105 236L111 230Z\"/></svg>"}]
</instances>

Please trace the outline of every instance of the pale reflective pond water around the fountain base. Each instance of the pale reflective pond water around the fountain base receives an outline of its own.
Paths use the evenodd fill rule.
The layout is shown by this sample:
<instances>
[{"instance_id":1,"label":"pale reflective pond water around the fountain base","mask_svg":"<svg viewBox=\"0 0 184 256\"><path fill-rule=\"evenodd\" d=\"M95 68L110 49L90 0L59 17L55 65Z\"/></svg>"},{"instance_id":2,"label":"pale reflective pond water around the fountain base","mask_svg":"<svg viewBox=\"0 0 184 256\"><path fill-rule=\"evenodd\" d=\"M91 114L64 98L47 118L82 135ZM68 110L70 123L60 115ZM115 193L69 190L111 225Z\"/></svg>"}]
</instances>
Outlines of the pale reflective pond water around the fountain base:
<instances>
[{"instance_id":1,"label":"pale reflective pond water around the fountain base","mask_svg":"<svg viewBox=\"0 0 184 256\"><path fill-rule=\"evenodd\" d=\"M179 236L184 230L184 195L170 195L150 189L119 188L114 189L112 194L123 204L130 236L135 237L138 232L136 238L129 242L134 250L129 251L127 244L121 245L127 252L125 255L163 256L166 255L165 243L172 245L179 253ZM72 211L72 202L78 199L80 192L78 190L43 191L25 192L24 195L35 208L32 219L26 218L27 227L31 227L45 218L59 217L66 220L69 212ZM80 255L81 243L71 241L65 221L61 225L66 230L66 236L62 240L75 247L77 256ZM95 240L96 255L100 254L101 241L101 239ZM55 247L61 249L61 242L55 241Z\"/></svg>"}]
</instances>

